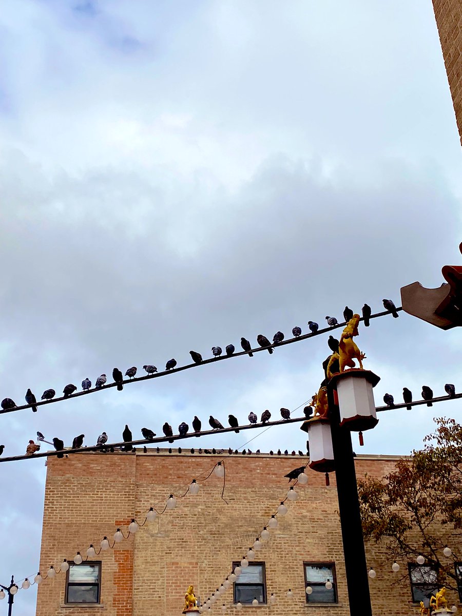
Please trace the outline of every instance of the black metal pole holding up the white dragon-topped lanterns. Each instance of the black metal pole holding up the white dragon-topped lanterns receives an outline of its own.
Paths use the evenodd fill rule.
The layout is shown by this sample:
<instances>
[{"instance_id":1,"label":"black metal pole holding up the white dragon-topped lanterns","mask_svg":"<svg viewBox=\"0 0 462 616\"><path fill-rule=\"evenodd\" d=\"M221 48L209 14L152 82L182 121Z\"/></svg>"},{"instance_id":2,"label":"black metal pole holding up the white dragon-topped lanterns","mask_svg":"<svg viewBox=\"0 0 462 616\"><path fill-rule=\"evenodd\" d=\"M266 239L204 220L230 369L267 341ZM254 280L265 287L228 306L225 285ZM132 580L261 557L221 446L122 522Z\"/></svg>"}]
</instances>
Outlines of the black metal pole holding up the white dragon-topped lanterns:
<instances>
[{"instance_id":1,"label":"black metal pole holding up the white dragon-topped lanterns","mask_svg":"<svg viewBox=\"0 0 462 616\"><path fill-rule=\"evenodd\" d=\"M351 432L340 427L339 408L329 385L327 397L350 614L372 616Z\"/></svg>"}]
</instances>

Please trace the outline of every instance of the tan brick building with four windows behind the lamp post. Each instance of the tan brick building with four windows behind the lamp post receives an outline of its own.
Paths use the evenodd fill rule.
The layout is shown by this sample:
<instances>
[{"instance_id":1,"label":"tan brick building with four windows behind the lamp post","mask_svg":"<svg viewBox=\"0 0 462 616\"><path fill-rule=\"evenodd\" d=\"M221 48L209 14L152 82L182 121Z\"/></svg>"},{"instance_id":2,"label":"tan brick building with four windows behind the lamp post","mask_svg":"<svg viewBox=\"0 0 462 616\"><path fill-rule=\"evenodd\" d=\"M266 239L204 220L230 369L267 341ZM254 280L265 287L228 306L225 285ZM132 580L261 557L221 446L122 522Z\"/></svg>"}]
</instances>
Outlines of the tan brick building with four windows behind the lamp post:
<instances>
[{"instance_id":1,"label":"tan brick building with four windows behind the lamp post","mask_svg":"<svg viewBox=\"0 0 462 616\"><path fill-rule=\"evenodd\" d=\"M214 474L201 477L218 460L225 461L225 503L223 480ZM384 476L394 468L391 456L358 456L357 474ZM132 517L140 522L150 506L165 503L170 493L185 492L197 478L198 495L188 494L176 508L140 528L132 537L115 544L115 549L92 557L91 567L71 567L39 586L37 616L178 616L190 584L205 599L223 582L233 561L240 561L257 534L285 498L288 482L284 475L306 463L299 456L86 453L64 460L49 458L44 505L41 572L63 559L73 561L77 551L86 556L92 543L99 549L107 536L121 527L126 534ZM342 558L341 531L334 474L326 487L323 474L307 469L309 482L297 486L299 498L287 503L288 513L278 517L277 529L256 552L251 566L238 577L235 587L219 598L214 613L237 615L235 601L258 596L260 616L347 616L347 588ZM393 590L390 602L390 565L377 546L367 546L368 565L377 577L370 580L373 613L415 614L408 580L400 591ZM407 564L401 563L401 575ZM333 588L327 591L325 578ZM306 582L313 588L304 591ZM246 586L249 584L249 586ZM83 586L82 586L83 585ZM287 598L291 588L293 598ZM418 591L418 589L415 589ZM271 593L277 598L269 603ZM79 601L86 601L81 602ZM456 602L454 593L450 601ZM452 603L450 603L452 605ZM307 609L309 612L307 612ZM360 614L360 611L358 612Z\"/></svg>"}]
</instances>

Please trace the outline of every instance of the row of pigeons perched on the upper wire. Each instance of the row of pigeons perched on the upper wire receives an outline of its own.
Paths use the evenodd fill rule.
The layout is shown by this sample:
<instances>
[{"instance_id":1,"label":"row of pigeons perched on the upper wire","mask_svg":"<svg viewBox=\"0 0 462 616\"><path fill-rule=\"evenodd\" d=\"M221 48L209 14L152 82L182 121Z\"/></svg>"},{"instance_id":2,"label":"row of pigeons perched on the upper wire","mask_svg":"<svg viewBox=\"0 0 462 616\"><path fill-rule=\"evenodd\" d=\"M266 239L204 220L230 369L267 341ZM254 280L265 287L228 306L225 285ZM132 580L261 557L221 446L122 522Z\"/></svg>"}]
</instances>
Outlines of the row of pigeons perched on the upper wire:
<instances>
[{"instance_id":1,"label":"row of pigeons perched on the upper wire","mask_svg":"<svg viewBox=\"0 0 462 616\"><path fill-rule=\"evenodd\" d=\"M383 305L386 308L386 310L389 310L392 313L394 317L399 316L396 311L395 304L394 302L392 302L391 299L384 299ZM349 308L348 306L345 306L345 309L343 311L343 317L344 317L345 322L348 322L349 320L351 320L353 315L354 315L353 310ZM362 307L362 315L364 319L364 324L365 326L368 327L369 319L371 316L371 307L368 306L368 304L364 304L364 306ZM326 321L330 327L334 327L338 325L338 320L335 317L326 317ZM318 323L315 323L314 321L309 321L308 328L310 330L310 333L315 334L317 333L319 329L319 325ZM294 338L299 338L299 336L302 335L301 327L296 325L293 328L292 333L293 333ZM273 342L270 342L269 339L266 338L266 336L264 336L263 334L259 334L257 336L257 344L259 344L259 346L261 346L262 348L266 348L269 354L272 354L273 346L274 345L277 346L278 344L280 344L284 340L284 338L285 336L282 333L282 331L277 331L274 334ZM252 346L246 338L241 338L241 347L243 351L248 353L249 357L253 357ZM227 344L227 346L225 346L225 354L227 355L227 357L230 357L231 355L233 355L235 350L236 349L233 344ZM212 351L213 357L220 357L223 352L222 348L219 346L212 347L211 351ZM191 358L194 363L199 364L204 361L202 358L202 355L198 353L197 351L190 351L189 354L191 355ZM177 365L176 359L169 359L165 365L165 371L168 372L170 370L173 370L176 367L176 365ZM158 371L154 365L150 365L150 364L144 365L143 369L146 371L147 375L153 375ZM124 376L128 376L129 379L132 379L132 378L135 378L136 374L137 374L136 366L132 366L131 368L128 368L126 370L125 375L123 375L122 372L118 368L114 368L114 370L112 371L112 378L113 378L114 383L116 383L117 385L118 391L123 390ZM107 376L105 374L100 375L95 381L95 389L101 389L102 387L105 386L106 383L107 383ZM82 381L81 385L82 385L82 391L89 391L91 389L92 382L87 377ZM73 383L69 383L63 389L63 397L68 398L76 391L77 391L76 385ZM56 391L54 389L46 389L41 396L41 400L52 400L55 397L55 395L56 395ZM26 400L26 403L30 405L32 410L36 412L37 411L37 407L36 407L37 399L30 389L26 391L25 400ZM17 404L11 398L4 398L0 402L0 406L3 410L10 410L12 408L16 408Z\"/></svg>"}]
</instances>

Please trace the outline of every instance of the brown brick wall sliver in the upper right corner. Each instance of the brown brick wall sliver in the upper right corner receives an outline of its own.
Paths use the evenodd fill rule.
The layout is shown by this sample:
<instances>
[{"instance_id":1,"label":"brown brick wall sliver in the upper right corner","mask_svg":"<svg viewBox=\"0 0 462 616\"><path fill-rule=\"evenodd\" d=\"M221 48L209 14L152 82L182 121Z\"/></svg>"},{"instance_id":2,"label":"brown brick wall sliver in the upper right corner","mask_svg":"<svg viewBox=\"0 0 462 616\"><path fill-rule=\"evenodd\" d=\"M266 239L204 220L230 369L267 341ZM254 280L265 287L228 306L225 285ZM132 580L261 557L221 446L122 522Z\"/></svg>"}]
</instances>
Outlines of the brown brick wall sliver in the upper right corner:
<instances>
[{"instance_id":1,"label":"brown brick wall sliver in the upper right corner","mask_svg":"<svg viewBox=\"0 0 462 616\"><path fill-rule=\"evenodd\" d=\"M433 8L462 142L462 1L433 0Z\"/></svg>"}]
</instances>

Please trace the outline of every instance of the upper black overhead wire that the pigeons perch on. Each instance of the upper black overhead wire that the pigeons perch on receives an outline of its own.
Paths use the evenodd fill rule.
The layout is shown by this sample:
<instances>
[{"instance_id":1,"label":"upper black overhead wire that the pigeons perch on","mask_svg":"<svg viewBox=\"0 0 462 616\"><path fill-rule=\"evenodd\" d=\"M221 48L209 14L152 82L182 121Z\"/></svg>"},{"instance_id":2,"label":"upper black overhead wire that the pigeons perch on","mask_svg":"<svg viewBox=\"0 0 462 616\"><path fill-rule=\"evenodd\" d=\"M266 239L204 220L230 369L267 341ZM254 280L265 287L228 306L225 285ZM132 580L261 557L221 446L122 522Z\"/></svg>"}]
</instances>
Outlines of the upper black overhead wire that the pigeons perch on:
<instances>
[{"instance_id":1,"label":"upper black overhead wire that the pigeons perch on","mask_svg":"<svg viewBox=\"0 0 462 616\"><path fill-rule=\"evenodd\" d=\"M402 310L402 307L396 308L397 312L399 312L399 310ZM384 312L377 312L376 314L371 315L369 318L384 317L389 314L392 314L391 311L385 310ZM360 318L360 321L363 321L363 320L364 320L363 318ZM226 359L231 359L232 357L241 357L242 355L248 355L249 352L259 353L261 351L267 351L267 349L270 349L270 348L284 346L285 344L292 344L293 342L298 342L299 340L306 340L308 338L314 338L314 336L320 336L321 334L325 334L328 331L338 330L339 328L342 328L345 325L346 325L346 322L338 323L337 325L328 326L328 327L325 327L323 329L313 331L313 332L310 331L309 334L303 334L302 336L298 336L297 338L288 338L287 340L276 342L276 343L270 344L269 346L257 347L256 349L251 349L250 351L240 351L238 353L235 352L232 355L222 355L221 357L210 357L209 359L202 360L200 363L188 363L187 365L180 366L179 368L172 368L172 370L163 370L161 372L156 372L154 374L148 374L145 376L135 376L134 378L124 379L123 381L121 381L121 383L123 385L129 385L131 383L139 383L139 381L147 381L148 379L156 379L156 378L159 378L160 376L167 376L167 375L174 374L176 372L180 372L182 370L189 370L189 368L197 368L198 366L204 365L206 363L221 362ZM63 402L63 400L70 400L71 398L76 398L80 395L94 394L95 392L103 391L105 389L109 389L110 387L116 387L116 386L118 386L118 383L106 383L102 387L92 387L91 389L86 389L85 391L79 391L74 394L66 395L66 396L62 395L58 398L53 398L51 400L38 400L37 402L34 402L33 404L23 404L20 406L15 406L13 408L0 409L0 414L1 413L12 413L14 411L24 410L25 408L40 407L44 404L51 404L54 402Z\"/></svg>"}]
</instances>

